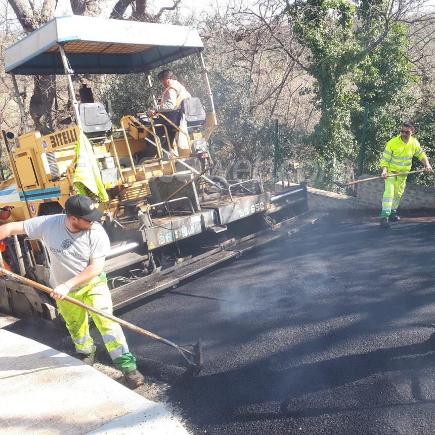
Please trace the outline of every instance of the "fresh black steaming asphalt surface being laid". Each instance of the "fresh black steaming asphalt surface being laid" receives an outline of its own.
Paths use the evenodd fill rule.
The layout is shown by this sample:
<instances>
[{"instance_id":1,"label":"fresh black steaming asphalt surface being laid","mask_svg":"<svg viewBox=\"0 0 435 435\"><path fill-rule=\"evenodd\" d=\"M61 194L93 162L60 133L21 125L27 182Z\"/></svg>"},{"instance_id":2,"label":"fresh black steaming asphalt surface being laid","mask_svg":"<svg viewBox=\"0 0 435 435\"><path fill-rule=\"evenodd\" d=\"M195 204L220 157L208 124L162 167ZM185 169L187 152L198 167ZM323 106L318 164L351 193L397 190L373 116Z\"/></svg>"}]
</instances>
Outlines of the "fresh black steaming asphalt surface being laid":
<instances>
[{"instance_id":1,"label":"fresh black steaming asphalt surface being laid","mask_svg":"<svg viewBox=\"0 0 435 435\"><path fill-rule=\"evenodd\" d=\"M435 218L334 221L120 313L179 344L202 339L190 378L175 350L125 331L192 433L435 433ZM60 332L8 329L73 352Z\"/></svg>"}]
</instances>

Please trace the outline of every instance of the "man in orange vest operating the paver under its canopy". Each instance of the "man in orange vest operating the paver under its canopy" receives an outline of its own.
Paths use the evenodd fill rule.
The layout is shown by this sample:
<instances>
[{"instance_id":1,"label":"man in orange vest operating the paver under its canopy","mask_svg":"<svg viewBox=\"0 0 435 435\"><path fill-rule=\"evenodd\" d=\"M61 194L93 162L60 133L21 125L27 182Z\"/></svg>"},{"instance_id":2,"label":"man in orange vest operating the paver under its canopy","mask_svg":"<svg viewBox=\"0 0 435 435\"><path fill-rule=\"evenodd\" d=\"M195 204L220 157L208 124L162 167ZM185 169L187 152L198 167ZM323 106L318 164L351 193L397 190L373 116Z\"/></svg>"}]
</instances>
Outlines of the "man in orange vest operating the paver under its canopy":
<instances>
[{"instance_id":1,"label":"man in orange vest operating the paver under its canopy","mask_svg":"<svg viewBox=\"0 0 435 435\"><path fill-rule=\"evenodd\" d=\"M161 138L164 148L169 149L172 147L173 140L177 133L177 129L168 123L164 118L158 116L162 113L167 119L172 121L176 125L180 125L182 117L181 102L185 98L190 98L191 95L186 91L186 88L177 80L177 76L170 69L164 69L158 73L158 79L165 87L163 95L160 100L160 104L153 109L150 109L148 116L153 118L154 124L164 124L167 129L168 137L162 141L165 136L165 129L163 126L156 127L156 135Z\"/></svg>"}]
</instances>

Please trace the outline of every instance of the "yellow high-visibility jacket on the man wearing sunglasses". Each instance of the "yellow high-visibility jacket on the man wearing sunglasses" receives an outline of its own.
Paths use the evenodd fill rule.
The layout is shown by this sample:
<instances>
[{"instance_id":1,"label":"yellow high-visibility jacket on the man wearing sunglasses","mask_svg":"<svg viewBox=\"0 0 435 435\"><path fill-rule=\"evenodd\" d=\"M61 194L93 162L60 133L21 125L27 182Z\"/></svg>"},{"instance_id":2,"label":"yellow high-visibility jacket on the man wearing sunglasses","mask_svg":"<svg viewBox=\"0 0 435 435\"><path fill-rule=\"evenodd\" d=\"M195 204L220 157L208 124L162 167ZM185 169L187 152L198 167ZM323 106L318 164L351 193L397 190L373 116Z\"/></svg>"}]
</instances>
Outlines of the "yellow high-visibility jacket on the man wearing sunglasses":
<instances>
[{"instance_id":1,"label":"yellow high-visibility jacket on the man wearing sunglasses","mask_svg":"<svg viewBox=\"0 0 435 435\"><path fill-rule=\"evenodd\" d=\"M386 144L379 164L381 168L386 166L388 172L408 172L411 170L412 157L422 160L426 154L417 139L411 136L406 144L399 135Z\"/></svg>"}]
</instances>

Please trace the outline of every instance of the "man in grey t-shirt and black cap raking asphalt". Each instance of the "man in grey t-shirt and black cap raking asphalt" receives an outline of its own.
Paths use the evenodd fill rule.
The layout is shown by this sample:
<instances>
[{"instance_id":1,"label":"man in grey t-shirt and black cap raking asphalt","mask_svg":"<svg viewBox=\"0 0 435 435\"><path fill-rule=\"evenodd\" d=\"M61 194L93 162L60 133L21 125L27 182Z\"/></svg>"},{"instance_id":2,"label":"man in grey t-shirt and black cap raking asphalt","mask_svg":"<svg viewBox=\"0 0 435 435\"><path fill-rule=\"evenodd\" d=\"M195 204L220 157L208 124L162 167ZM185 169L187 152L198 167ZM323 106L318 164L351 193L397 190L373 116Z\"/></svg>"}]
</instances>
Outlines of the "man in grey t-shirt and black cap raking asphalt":
<instances>
[{"instance_id":1,"label":"man in grey t-shirt and black cap raking asphalt","mask_svg":"<svg viewBox=\"0 0 435 435\"><path fill-rule=\"evenodd\" d=\"M0 240L16 234L41 239L50 255L50 294L57 305L75 344L78 358L93 364L96 346L89 334L88 313L63 300L73 297L87 305L112 314L112 298L103 272L109 238L101 226L103 213L85 195L69 197L65 214L39 216L24 222L12 222L0 227ZM125 336L118 323L90 313L100 331L106 349L115 366L130 386L144 383L137 370L136 358L129 352Z\"/></svg>"}]
</instances>

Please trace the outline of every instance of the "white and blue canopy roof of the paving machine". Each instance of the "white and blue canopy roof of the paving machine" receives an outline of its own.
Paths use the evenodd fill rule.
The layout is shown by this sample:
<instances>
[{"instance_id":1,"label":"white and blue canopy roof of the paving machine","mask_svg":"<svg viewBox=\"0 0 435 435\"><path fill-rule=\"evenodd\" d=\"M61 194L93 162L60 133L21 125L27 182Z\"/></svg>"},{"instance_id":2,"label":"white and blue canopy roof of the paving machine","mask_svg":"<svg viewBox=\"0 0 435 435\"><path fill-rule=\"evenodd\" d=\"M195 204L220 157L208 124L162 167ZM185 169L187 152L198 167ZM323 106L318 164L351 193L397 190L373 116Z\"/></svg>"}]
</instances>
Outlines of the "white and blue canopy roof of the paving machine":
<instances>
[{"instance_id":1,"label":"white and blue canopy roof of the paving machine","mask_svg":"<svg viewBox=\"0 0 435 435\"><path fill-rule=\"evenodd\" d=\"M5 71L65 74L58 43L63 43L76 74L143 72L203 50L194 27L57 17L5 50Z\"/></svg>"}]
</instances>

